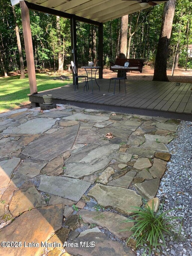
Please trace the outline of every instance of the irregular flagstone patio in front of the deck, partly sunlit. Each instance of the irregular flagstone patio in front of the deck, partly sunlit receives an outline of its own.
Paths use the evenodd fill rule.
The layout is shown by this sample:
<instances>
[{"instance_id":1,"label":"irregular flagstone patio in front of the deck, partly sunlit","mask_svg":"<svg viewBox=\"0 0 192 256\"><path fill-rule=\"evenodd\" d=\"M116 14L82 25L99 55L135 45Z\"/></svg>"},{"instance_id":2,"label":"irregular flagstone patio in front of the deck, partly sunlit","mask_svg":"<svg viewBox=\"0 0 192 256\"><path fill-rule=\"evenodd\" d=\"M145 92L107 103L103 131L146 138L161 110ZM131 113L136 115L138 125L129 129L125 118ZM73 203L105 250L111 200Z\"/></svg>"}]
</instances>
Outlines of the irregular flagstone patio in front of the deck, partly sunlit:
<instances>
[{"instance_id":1,"label":"irregular flagstone patio in front of the deck, partly sunlit","mask_svg":"<svg viewBox=\"0 0 192 256\"><path fill-rule=\"evenodd\" d=\"M0 255L135 255L122 221L156 196L177 128L68 105L0 114L0 240L21 242Z\"/></svg>"}]
</instances>

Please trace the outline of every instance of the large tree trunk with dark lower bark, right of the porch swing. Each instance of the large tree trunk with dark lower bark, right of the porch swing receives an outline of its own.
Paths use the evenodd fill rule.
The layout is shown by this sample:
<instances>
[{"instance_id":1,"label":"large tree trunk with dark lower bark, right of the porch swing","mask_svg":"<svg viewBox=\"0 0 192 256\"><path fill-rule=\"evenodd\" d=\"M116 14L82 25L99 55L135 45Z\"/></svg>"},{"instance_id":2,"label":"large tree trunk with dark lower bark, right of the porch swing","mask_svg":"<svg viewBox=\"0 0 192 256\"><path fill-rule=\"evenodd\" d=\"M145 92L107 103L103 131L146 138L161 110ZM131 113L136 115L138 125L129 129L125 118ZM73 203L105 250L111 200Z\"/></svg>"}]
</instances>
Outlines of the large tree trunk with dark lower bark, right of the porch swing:
<instances>
[{"instance_id":1,"label":"large tree trunk with dark lower bark, right of the porch swing","mask_svg":"<svg viewBox=\"0 0 192 256\"><path fill-rule=\"evenodd\" d=\"M164 4L164 14L159 36L153 81L169 81L167 77L167 54L175 13L176 0Z\"/></svg>"}]
</instances>

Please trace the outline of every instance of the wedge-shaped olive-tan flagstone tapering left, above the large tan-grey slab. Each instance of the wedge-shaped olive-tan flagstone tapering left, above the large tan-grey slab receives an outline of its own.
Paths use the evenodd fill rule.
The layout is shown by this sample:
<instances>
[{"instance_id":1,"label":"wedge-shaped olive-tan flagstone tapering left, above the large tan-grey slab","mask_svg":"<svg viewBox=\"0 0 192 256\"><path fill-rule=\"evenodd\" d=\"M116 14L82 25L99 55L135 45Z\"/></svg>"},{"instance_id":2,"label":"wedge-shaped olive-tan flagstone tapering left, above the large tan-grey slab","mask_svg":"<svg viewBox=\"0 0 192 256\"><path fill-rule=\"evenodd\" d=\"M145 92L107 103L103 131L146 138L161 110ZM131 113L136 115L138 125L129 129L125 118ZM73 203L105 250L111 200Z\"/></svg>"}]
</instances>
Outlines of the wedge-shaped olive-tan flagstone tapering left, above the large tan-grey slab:
<instances>
[{"instance_id":1,"label":"wedge-shaped olive-tan flagstone tapering left, above the large tan-grey slab","mask_svg":"<svg viewBox=\"0 0 192 256\"><path fill-rule=\"evenodd\" d=\"M136 173L137 173L136 170L129 171L124 176L110 181L107 185L128 188L130 186L130 184L133 182L133 179L134 179Z\"/></svg>"}]
</instances>

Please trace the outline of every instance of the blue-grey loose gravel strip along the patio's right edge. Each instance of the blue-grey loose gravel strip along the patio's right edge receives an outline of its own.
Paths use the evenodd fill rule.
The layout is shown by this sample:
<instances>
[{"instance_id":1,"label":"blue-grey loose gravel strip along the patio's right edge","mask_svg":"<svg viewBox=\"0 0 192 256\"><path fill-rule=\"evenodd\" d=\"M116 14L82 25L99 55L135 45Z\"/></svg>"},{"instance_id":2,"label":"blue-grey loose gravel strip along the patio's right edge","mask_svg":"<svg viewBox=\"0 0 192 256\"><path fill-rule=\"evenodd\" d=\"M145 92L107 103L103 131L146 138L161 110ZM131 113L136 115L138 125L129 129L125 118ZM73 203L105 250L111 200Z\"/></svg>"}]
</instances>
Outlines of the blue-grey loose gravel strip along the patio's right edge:
<instances>
[{"instance_id":1,"label":"blue-grey loose gravel strip along the patio's right edge","mask_svg":"<svg viewBox=\"0 0 192 256\"><path fill-rule=\"evenodd\" d=\"M164 211L173 209L170 215L183 218L182 229L177 239L165 237L160 255L192 256L192 122L181 121L177 135L167 146L172 156L157 197L164 201ZM142 252L137 250L137 256Z\"/></svg>"}]
</instances>

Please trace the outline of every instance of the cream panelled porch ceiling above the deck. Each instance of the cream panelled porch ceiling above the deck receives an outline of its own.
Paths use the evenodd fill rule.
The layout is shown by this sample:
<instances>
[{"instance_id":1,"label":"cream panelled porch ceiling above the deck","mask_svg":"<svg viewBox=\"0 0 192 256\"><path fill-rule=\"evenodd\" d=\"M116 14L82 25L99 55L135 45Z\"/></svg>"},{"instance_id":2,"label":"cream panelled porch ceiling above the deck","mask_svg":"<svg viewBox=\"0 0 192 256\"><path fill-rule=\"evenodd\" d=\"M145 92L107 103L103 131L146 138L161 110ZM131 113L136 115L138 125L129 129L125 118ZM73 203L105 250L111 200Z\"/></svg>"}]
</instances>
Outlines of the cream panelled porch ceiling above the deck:
<instances>
[{"instance_id":1,"label":"cream panelled porch ceiling above the deck","mask_svg":"<svg viewBox=\"0 0 192 256\"><path fill-rule=\"evenodd\" d=\"M143 8L139 2L133 0L28 0L27 2L39 5L41 8L51 8L102 23L152 7L148 4ZM163 2L166 1L156 3ZM16 5L19 0L11 0L11 3Z\"/></svg>"}]
</instances>

